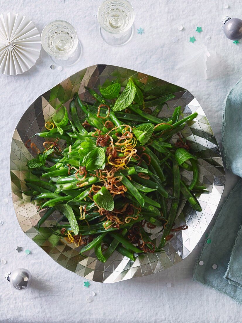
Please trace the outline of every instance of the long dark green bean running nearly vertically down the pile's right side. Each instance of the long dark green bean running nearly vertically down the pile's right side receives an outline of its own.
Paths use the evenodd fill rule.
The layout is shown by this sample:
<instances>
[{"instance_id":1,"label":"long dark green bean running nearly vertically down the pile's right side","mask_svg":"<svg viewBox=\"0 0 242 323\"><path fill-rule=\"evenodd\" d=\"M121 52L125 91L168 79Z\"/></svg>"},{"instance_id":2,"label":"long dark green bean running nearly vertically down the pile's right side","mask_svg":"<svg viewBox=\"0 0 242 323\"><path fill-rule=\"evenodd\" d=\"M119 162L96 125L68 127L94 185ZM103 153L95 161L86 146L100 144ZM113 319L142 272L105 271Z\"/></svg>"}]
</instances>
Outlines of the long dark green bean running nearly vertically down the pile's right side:
<instances>
[{"instance_id":1,"label":"long dark green bean running nearly vertically down the pile's right side","mask_svg":"<svg viewBox=\"0 0 242 323\"><path fill-rule=\"evenodd\" d=\"M169 234L172 224L175 221L177 209L178 209L178 199L180 197L180 172L179 172L179 165L175 159L172 160L173 163L173 196L176 200L173 200L170 207L170 212L168 215L168 223L163 231L161 240L160 240L160 247L163 247L166 242L166 237Z\"/></svg>"}]
</instances>

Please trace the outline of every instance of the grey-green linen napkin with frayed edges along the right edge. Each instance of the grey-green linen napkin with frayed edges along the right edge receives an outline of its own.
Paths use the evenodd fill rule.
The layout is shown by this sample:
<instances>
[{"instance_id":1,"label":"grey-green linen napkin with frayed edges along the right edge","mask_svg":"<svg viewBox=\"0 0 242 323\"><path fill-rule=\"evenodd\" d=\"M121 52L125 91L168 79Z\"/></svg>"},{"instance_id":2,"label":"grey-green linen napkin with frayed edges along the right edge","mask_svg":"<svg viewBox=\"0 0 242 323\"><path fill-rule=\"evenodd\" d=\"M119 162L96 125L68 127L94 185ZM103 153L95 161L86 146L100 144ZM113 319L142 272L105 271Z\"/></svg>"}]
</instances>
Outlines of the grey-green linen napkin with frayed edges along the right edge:
<instances>
[{"instance_id":1,"label":"grey-green linen napkin with frayed edges along the right edge","mask_svg":"<svg viewBox=\"0 0 242 323\"><path fill-rule=\"evenodd\" d=\"M242 82L223 106L222 144L225 165L242 177ZM242 179L220 209L194 269L193 280L217 289L242 304ZM210 243L209 243L210 242Z\"/></svg>"}]
</instances>

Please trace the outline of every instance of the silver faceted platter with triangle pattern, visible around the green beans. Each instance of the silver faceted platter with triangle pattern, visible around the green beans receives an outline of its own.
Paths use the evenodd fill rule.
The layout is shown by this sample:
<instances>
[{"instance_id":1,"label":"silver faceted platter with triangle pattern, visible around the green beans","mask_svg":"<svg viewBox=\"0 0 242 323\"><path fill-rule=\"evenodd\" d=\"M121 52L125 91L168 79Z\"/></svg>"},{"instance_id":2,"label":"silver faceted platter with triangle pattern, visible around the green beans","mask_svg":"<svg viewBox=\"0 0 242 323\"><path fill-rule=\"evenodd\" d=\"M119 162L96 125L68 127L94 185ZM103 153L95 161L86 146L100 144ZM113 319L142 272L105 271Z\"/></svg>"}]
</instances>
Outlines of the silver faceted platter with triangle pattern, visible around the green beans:
<instances>
[{"instance_id":1,"label":"silver faceted platter with triangle pattern, visible around the green beans","mask_svg":"<svg viewBox=\"0 0 242 323\"><path fill-rule=\"evenodd\" d=\"M44 130L45 122L49 121L51 117L57 121L61 120L63 106L69 111L70 101L76 92L79 93L82 100L94 103L94 99L85 87L98 91L100 85L107 82L107 79L112 81L118 78L123 89L130 77L137 80L137 84L147 99L174 93L175 98L168 101L168 108L163 107L160 117L172 115L177 106L181 106L182 115L180 118L186 117L192 112L198 112L197 118L188 121L181 134L186 138L190 151L197 156L198 181L207 187L208 193L197 195L202 212L193 210L188 202L181 199L174 228L187 224L188 229L173 232L173 237L164 246L164 252L136 256L135 262L133 262L115 251L103 264L96 259L92 250L86 252L86 257L83 257L79 255L81 247L76 248L74 244L68 244L66 239L60 239L53 234L51 228L60 218L58 212L53 213L37 232L36 225L45 211L41 210L37 213L37 202L31 202L30 196L22 193L28 189L24 179L34 177L26 167L26 162L32 158L33 152L30 148L26 148L25 142L35 133ZM31 138L31 141L40 150L43 150L43 142L46 140L50 140L50 138ZM177 138L173 137L172 141L176 140ZM60 141L61 144L63 145L64 142ZM12 138L10 172L15 213L24 233L61 266L86 279L103 283L114 283L133 277L151 275L167 269L187 257L198 244L212 220L225 184L225 172L218 143L197 99L188 90L162 79L111 65L94 65L82 69L39 96L31 104L19 120ZM182 176L189 183L192 173L184 171ZM152 233L151 239L155 244L159 244L161 238L159 231L160 228L149 229L149 232Z\"/></svg>"}]
</instances>

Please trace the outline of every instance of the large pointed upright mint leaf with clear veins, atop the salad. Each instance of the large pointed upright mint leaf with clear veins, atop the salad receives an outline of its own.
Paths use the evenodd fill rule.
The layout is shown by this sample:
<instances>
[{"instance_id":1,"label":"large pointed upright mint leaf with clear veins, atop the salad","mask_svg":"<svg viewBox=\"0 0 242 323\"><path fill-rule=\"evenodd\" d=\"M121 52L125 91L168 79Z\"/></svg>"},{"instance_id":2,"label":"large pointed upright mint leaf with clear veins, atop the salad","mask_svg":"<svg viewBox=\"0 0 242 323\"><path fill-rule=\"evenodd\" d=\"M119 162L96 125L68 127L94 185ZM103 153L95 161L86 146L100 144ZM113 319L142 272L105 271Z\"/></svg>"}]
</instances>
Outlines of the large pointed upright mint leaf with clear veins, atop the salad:
<instances>
[{"instance_id":1,"label":"large pointed upright mint leaf with clear veins, atop the salad","mask_svg":"<svg viewBox=\"0 0 242 323\"><path fill-rule=\"evenodd\" d=\"M129 79L125 89L122 91L114 106L112 107L112 110L121 111L123 109L126 109L133 102L135 92L135 84L132 79Z\"/></svg>"}]
</instances>

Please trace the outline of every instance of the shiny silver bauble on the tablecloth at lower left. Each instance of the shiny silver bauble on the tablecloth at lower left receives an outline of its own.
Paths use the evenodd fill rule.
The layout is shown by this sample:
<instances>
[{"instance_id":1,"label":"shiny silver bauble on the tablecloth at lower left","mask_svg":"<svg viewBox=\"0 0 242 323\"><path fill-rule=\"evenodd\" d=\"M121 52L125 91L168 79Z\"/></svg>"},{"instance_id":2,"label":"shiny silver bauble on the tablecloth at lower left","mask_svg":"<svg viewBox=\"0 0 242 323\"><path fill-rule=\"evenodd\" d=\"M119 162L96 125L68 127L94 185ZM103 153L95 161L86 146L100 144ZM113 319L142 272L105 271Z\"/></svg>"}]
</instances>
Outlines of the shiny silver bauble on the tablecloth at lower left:
<instances>
[{"instance_id":1,"label":"shiny silver bauble on the tablecloth at lower left","mask_svg":"<svg viewBox=\"0 0 242 323\"><path fill-rule=\"evenodd\" d=\"M31 285L32 275L24 268L17 268L12 273L5 274L5 278L10 281L15 289L26 289Z\"/></svg>"}]
</instances>

